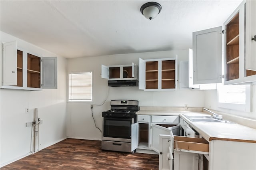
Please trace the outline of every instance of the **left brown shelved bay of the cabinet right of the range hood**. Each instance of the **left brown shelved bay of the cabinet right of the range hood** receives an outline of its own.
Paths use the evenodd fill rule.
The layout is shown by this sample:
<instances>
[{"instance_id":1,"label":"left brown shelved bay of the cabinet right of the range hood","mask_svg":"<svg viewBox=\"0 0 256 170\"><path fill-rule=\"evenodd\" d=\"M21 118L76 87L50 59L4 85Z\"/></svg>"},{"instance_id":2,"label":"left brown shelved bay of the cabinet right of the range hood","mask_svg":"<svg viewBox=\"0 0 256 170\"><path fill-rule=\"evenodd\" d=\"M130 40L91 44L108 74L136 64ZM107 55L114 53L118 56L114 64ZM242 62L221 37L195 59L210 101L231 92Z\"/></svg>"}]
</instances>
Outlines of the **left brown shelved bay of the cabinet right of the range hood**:
<instances>
[{"instance_id":1,"label":"left brown shelved bay of the cabinet right of the range hood","mask_svg":"<svg viewBox=\"0 0 256 170\"><path fill-rule=\"evenodd\" d=\"M146 89L158 89L158 61L146 62Z\"/></svg>"}]
</instances>

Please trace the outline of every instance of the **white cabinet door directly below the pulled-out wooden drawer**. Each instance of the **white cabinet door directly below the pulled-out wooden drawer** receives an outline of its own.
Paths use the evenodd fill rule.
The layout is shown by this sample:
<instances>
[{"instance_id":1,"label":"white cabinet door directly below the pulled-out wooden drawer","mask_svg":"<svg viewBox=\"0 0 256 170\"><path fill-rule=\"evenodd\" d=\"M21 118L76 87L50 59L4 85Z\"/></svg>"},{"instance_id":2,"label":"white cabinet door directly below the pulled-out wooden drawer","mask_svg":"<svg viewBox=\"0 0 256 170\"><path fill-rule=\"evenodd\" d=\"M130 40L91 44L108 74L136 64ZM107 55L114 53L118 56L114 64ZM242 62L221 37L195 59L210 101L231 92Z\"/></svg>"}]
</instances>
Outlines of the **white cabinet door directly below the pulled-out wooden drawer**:
<instances>
[{"instance_id":1,"label":"white cabinet door directly below the pulled-out wooden drawer","mask_svg":"<svg viewBox=\"0 0 256 170\"><path fill-rule=\"evenodd\" d=\"M174 170L198 170L198 154L174 150Z\"/></svg>"}]
</instances>

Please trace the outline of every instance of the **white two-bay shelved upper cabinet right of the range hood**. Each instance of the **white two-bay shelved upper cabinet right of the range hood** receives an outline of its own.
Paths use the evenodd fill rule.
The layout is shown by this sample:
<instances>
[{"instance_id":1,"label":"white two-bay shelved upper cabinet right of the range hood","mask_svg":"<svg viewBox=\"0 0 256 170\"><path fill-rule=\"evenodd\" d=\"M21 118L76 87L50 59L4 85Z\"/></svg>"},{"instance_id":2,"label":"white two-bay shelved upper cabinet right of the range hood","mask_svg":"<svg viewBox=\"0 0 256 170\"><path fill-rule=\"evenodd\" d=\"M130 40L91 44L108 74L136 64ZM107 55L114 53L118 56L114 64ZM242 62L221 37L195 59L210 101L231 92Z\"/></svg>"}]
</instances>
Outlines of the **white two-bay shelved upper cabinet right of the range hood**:
<instances>
[{"instance_id":1,"label":"white two-bay shelved upper cabinet right of the range hood","mask_svg":"<svg viewBox=\"0 0 256 170\"><path fill-rule=\"evenodd\" d=\"M144 91L176 90L177 57L139 59L139 89Z\"/></svg>"}]
</instances>

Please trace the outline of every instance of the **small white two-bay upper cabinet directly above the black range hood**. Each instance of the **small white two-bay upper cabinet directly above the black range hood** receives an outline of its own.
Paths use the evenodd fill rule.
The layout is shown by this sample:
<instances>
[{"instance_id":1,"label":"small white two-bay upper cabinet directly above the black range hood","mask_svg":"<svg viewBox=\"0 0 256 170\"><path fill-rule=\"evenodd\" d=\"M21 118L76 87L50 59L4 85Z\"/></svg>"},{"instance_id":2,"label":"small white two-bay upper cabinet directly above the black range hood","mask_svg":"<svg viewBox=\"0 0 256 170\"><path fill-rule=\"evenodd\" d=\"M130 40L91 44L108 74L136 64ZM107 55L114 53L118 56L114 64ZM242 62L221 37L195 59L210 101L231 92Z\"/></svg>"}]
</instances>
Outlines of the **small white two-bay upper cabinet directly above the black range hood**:
<instances>
[{"instance_id":1,"label":"small white two-bay upper cabinet directly above the black range hood","mask_svg":"<svg viewBox=\"0 0 256 170\"><path fill-rule=\"evenodd\" d=\"M101 65L101 77L108 80L136 80L138 67L130 65Z\"/></svg>"}]
</instances>

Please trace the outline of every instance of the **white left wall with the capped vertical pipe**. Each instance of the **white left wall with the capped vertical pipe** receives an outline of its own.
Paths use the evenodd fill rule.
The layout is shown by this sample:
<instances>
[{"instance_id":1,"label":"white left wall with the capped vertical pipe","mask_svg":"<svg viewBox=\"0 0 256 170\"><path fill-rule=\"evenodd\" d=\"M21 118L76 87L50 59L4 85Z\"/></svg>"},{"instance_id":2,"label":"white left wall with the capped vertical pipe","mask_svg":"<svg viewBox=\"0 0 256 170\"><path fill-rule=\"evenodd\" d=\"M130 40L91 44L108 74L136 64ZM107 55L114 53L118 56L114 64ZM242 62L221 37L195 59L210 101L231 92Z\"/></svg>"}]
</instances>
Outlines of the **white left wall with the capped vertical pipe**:
<instances>
[{"instance_id":1,"label":"white left wall with the capped vertical pipe","mask_svg":"<svg viewBox=\"0 0 256 170\"><path fill-rule=\"evenodd\" d=\"M56 56L54 53L1 32L1 42L14 40L17 41L18 47L42 57ZM67 61L63 57L57 57L58 89L43 89L42 91L0 89L1 166L30 154L32 127L26 127L26 122L33 121L34 108L38 108L38 117L43 120L42 125L39 125L40 149L66 138ZM29 108L28 114L25 113L26 107Z\"/></svg>"}]
</instances>

